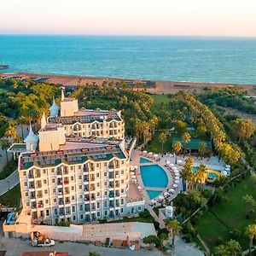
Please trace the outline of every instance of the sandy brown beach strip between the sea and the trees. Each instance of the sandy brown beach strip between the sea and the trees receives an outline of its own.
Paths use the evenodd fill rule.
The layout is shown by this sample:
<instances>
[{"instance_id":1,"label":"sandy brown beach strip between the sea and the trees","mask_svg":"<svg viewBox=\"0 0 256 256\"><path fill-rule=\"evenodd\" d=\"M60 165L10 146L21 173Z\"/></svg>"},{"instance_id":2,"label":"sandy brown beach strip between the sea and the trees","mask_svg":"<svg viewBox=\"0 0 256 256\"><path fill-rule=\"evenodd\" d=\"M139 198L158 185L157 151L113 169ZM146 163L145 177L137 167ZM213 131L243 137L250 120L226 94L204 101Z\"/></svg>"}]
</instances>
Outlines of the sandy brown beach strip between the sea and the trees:
<instances>
[{"instance_id":1,"label":"sandy brown beach strip between the sea and the trees","mask_svg":"<svg viewBox=\"0 0 256 256\"><path fill-rule=\"evenodd\" d=\"M190 92L200 92L204 88L225 88L230 86L239 86L247 90L248 96L256 96L256 84L231 84L231 83L213 83L213 82L189 82L189 81L171 81L171 80L157 80L157 79L123 79L123 78L108 78L108 77L90 77L69 74L46 74L46 73L2 73L1 77L18 76L20 78L49 78L47 82L53 84L60 84L64 86L80 86L86 83L96 83L101 85L104 80L108 82L141 82L152 81L155 82L156 87L147 87L147 91L155 94L173 94L178 90L186 90Z\"/></svg>"}]
</instances>

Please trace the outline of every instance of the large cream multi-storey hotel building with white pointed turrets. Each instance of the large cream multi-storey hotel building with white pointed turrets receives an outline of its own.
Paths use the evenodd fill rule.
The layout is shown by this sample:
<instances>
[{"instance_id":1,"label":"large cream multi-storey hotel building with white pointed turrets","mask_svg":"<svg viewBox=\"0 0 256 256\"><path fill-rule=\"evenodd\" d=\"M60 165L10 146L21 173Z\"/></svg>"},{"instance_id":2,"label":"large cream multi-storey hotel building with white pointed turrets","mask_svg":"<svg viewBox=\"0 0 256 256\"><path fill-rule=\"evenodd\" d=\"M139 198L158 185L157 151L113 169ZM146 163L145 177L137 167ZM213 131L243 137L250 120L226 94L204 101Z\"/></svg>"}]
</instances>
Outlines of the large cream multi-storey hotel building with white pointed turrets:
<instances>
[{"instance_id":1,"label":"large cream multi-storey hotel building with white pointed turrets","mask_svg":"<svg viewBox=\"0 0 256 256\"><path fill-rule=\"evenodd\" d=\"M38 136L30 127L19 156L23 211L33 223L84 224L142 212L120 112L79 110L63 91L61 109L54 101L49 112Z\"/></svg>"}]
</instances>

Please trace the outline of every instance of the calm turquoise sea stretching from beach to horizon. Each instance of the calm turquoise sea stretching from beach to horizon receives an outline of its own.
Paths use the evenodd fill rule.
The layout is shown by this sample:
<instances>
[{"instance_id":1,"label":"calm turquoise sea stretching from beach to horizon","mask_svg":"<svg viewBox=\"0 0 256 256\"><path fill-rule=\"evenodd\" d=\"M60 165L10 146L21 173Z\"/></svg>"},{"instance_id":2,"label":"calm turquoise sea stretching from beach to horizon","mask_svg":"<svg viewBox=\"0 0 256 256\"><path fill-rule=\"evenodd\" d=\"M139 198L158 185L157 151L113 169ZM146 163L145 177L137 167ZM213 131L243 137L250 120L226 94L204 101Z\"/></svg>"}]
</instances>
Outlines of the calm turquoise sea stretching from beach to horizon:
<instances>
[{"instance_id":1,"label":"calm turquoise sea stretching from beach to horizon","mask_svg":"<svg viewBox=\"0 0 256 256\"><path fill-rule=\"evenodd\" d=\"M2 73L256 84L256 38L0 36Z\"/></svg>"}]
</instances>

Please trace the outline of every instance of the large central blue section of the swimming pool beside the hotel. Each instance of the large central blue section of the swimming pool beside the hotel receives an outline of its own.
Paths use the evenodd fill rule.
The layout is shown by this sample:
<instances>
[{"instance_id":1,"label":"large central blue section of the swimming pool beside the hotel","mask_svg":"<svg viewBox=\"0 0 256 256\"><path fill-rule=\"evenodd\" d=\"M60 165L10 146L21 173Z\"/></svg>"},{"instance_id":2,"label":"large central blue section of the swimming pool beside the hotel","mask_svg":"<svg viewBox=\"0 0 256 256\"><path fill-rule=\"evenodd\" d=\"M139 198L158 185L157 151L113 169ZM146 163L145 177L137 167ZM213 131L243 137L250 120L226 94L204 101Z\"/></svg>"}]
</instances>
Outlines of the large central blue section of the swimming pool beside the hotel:
<instances>
[{"instance_id":1,"label":"large central blue section of the swimming pool beside the hotel","mask_svg":"<svg viewBox=\"0 0 256 256\"><path fill-rule=\"evenodd\" d=\"M145 187L165 188L167 186L168 177L160 166L141 166L140 169Z\"/></svg>"}]
</instances>

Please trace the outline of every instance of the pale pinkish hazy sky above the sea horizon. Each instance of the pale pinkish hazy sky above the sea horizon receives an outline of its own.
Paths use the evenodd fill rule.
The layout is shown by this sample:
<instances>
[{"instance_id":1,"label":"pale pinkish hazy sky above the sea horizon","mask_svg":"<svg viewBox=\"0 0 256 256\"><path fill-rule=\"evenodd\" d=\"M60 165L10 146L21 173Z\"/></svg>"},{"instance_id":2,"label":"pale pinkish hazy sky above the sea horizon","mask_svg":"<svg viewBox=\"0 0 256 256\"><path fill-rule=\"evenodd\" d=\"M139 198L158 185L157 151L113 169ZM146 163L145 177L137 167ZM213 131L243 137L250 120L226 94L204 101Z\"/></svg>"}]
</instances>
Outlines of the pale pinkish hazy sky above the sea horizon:
<instances>
[{"instance_id":1,"label":"pale pinkish hazy sky above the sea horizon","mask_svg":"<svg viewBox=\"0 0 256 256\"><path fill-rule=\"evenodd\" d=\"M256 37L256 0L0 0L0 33Z\"/></svg>"}]
</instances>

